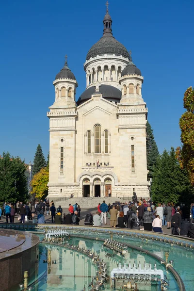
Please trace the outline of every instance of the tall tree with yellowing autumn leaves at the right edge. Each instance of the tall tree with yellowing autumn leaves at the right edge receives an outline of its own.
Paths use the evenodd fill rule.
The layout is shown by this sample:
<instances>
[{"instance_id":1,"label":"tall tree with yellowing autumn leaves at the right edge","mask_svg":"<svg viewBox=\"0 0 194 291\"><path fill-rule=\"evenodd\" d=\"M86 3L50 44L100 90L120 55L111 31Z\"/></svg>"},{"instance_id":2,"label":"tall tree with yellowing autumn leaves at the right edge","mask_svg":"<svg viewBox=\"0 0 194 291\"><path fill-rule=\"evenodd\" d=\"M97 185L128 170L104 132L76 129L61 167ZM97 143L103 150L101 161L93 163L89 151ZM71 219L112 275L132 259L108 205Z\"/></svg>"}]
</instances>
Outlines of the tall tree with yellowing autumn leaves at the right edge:
<instances>
[{"instance_id":1,"label":"tall tree with yellowing autumn leaves at the right edge","mask_svg":"<svg viewBox=\"0 0 194 291\"><path fill-rule=\"evenodd\" d=\"M186 112L182 114L179 121L182 147L177 148L176 156L194 186L194 88L189 87L185 91L183 101Z\"/></svg>"}]
</instances>

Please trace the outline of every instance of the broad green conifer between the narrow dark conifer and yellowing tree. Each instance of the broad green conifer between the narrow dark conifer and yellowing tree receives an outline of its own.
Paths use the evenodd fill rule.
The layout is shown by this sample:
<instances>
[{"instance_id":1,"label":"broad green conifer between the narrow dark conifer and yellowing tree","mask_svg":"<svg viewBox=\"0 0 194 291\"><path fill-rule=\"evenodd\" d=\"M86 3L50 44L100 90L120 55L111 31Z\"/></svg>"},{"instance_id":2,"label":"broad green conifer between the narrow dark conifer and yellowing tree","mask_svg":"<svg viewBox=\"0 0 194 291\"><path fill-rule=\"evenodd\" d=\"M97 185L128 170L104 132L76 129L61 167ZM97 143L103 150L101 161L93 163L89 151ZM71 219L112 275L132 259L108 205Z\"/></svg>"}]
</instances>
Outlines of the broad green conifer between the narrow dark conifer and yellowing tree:
<instances>
[{"instance_id":1,"label":"broad green conifer between the narrow dark conifer and yellowing tree","mask_svg":"<svg viewBox=\"0 0 194 291\"><path fill-rule=\"evenodd\" d=\"M189 187L188 176L180 168L174 148L171 147L170 152L164 150L162 155L158 157L154 167L153 200L157 203L167 203L168 201L177 203L180 197L184 197L184 193L191 191ZM184 202L184 200L181 202Z\"/></svg>"}]
</instances>

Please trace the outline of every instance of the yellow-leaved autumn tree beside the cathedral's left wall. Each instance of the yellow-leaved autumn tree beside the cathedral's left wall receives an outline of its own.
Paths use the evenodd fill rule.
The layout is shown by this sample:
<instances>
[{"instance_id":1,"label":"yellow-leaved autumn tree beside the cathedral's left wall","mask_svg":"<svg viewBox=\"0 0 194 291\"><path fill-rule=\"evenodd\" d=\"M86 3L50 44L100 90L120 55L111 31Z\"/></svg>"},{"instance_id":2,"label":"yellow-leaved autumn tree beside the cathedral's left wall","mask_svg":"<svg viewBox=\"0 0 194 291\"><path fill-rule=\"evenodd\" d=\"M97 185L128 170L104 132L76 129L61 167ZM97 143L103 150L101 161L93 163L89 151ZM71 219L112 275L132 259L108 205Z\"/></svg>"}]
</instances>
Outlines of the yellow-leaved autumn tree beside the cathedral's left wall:
<instances>
[{"instance_id":1,"label":"yellow-leaved autumn tree beside the cathedral's left wall","mask_svg":"<svg viewBox=\"0 0 194 291\"><path fill-rule=\"evenodd\" d=\"M36 198L44 198L48 195L48 184L49 182L49 169L44 167L40 172L36 173L31 181L32 194L35 194Z\"/></svg>"}]
</instances>

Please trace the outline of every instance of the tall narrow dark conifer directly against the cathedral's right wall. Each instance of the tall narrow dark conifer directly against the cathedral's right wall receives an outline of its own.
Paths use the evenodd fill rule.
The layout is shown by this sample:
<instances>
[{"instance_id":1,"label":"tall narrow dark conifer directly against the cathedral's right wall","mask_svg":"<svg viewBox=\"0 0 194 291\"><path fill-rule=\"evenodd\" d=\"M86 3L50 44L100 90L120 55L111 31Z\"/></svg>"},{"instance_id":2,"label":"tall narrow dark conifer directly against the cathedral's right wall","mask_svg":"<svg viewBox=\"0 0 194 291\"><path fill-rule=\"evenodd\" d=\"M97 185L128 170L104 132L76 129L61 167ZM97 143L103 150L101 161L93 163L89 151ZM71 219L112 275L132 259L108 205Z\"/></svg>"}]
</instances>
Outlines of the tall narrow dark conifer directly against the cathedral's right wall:
<instances>
[{"instance_id":1,"label":"tall narrow dark conifer directly against the cathedral's right wall","mask_svg":"<svg viewBox=\"0 0 194 291\"><path fill-rule=\"evenodd\" d=\"M146 122L146 152L147 152L147 174L148 180L153 178L154 166L159 156L158 146L156 145L153 129L149 122Z\"/></svg>"}]
</instances>

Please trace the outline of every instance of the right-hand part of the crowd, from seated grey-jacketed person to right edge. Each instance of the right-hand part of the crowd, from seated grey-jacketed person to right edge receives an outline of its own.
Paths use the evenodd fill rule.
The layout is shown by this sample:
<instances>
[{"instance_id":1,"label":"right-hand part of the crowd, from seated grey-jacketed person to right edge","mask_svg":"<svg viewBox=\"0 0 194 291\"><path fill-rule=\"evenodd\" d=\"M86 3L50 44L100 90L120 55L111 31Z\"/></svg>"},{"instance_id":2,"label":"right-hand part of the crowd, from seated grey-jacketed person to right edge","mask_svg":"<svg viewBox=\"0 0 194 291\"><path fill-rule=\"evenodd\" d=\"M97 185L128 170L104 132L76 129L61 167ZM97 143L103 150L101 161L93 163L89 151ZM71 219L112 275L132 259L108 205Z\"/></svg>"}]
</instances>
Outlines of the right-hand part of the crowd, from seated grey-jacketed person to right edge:
<instances>
[{"instance_id":1,"label":"right-hand part of the crowd, from seated grey-jacketed person to right edge","mask_svg":"<svg viewBox=\"0 0 194 291\"><path fill-rule=\"evenodd\" d=\"M171 229L174 235L182 235L194 238L194 203L189 209L185 204L175 206L174 203L158 203L155 205L150 200L140 199L137 202L115 201L107 205L105 201L97 205L97 213L94 215L94 226L107 224L110 218L112 227L127 227L146 231L162 232L162 227Z\"/></svg>"}]
</instances>

